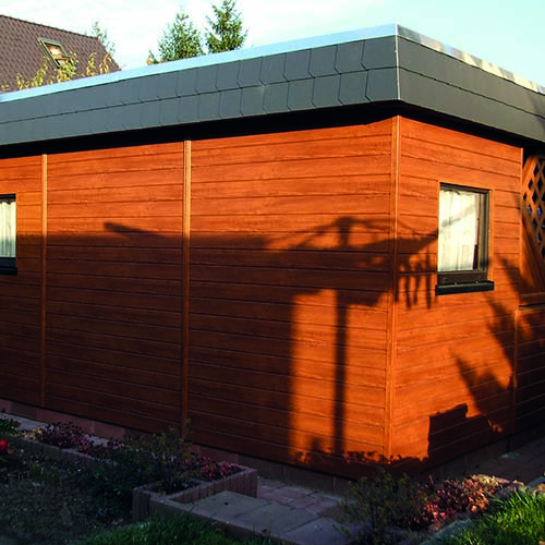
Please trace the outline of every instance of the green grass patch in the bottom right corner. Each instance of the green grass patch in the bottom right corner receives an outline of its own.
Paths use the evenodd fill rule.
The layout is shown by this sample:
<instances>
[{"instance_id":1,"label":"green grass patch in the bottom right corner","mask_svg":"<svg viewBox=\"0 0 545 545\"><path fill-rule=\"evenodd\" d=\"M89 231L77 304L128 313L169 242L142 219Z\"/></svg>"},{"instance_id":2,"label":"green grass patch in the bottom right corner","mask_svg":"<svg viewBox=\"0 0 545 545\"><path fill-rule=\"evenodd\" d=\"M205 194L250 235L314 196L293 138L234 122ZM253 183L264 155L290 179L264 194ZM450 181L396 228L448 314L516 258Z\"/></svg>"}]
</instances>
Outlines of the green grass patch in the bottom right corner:
<instances>
[{"instance_id":1,"label":"green grass patch in the bottom right corner","mask_svg":"<svg viewBox=\"0 0 545 545\"><path fill-rule=\"evenodd\" d=\"M497 500L445 545L537 545L545 541L545 496L516 493Z\"/></svg>"}]
</instances>

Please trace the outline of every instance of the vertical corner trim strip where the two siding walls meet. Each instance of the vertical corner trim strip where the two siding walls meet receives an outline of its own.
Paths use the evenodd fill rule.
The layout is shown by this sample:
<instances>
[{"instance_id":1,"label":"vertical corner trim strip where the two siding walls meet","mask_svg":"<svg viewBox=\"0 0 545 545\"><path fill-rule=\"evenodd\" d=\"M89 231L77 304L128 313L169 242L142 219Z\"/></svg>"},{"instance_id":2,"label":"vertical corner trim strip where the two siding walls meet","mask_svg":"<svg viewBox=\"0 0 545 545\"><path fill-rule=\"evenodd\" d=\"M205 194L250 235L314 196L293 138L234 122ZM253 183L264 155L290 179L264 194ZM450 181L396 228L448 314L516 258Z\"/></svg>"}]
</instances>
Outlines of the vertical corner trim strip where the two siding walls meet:
<instances>
[{"instance_id":1,"label":"vertical corner trim strip where the two siding walls meet","mask_svg":"<svg viewBox=\"0 0 545 545\"><path fill-rule=\"evenodd\" d=\"M391 459L392 411L393 411L393 365L396 364L396 323L397 323L397 280L398 280L398 190L399 190L399 153L400 153L400 118L392 119L391 124L391 184L390 184L390 253L391 274L388 304L388 332L386 358L386 396L385 396L385 456Z\"/></svg>"}]
</instances>

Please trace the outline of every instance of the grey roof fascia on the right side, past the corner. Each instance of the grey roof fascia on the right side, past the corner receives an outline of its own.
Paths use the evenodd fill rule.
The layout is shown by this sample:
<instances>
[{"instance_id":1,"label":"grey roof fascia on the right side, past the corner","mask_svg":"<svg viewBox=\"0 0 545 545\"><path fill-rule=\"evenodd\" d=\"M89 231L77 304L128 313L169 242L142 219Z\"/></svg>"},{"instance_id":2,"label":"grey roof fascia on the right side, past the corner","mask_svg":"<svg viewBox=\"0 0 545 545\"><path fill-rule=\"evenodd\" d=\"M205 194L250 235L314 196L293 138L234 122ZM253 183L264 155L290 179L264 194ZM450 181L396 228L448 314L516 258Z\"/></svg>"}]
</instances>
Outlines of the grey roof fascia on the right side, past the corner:
<instances>
[{"instance_id":1,"label":"grey roof fascia on the right side, past the corner","mask_svg":"<svg viewBox=\"0 0 545 545\"><path fill-rule=\"evenodd\" d=\"M545 142L545 88L469 56L400 37L400 100L500 132Z\"/></svg>"}]
</instances>

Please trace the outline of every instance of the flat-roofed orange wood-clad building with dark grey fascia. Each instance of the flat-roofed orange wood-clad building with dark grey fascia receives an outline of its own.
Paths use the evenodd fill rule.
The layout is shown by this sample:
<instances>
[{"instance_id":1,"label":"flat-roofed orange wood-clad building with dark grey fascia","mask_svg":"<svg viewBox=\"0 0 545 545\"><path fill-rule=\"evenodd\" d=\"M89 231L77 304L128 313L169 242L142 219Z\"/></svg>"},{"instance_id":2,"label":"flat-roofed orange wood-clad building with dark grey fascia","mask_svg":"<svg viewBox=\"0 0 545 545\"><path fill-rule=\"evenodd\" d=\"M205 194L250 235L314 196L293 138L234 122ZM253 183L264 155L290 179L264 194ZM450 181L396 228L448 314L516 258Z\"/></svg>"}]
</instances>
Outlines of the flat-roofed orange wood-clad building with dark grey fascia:
<instances>
[{"instance_id":1,"label":"flat-roofed orange wood-clad building with dark grey fascia","mask_svg":"<svg viewBox=\"0 0 545 545\"><path fill-rule=\"evenodd\" d=\"M332 475L545 424L545 96L388 26L0 95L0 398Z\"/></svg>"}]
</instances>

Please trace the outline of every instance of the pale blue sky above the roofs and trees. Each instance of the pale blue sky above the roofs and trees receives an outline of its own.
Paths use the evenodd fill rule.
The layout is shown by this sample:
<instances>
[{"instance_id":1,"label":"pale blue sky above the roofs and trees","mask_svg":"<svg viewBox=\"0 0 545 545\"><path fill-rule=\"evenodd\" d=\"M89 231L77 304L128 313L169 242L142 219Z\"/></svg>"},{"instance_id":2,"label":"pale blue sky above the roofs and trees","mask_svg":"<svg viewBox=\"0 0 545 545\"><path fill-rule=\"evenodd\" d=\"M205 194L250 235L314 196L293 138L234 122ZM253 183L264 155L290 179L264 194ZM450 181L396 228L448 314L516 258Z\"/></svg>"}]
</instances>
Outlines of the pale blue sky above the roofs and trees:
<instances>
[{"instance_id":1,"label":"pale blue sky above the roofs and trees","mask_svg":"<svg viewBox=\"0 0 545 545\"><path fill-rule=\"evenodd\" d=\"M0 14L89 33L97 21L122 69L142 68L183 10L201 31L220 0L0 0ZM545 0L237 0L244 47L398 23L545 86Z\"/></svg>"}]
</instances>

